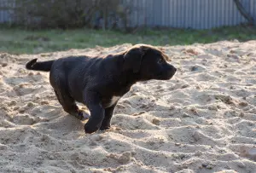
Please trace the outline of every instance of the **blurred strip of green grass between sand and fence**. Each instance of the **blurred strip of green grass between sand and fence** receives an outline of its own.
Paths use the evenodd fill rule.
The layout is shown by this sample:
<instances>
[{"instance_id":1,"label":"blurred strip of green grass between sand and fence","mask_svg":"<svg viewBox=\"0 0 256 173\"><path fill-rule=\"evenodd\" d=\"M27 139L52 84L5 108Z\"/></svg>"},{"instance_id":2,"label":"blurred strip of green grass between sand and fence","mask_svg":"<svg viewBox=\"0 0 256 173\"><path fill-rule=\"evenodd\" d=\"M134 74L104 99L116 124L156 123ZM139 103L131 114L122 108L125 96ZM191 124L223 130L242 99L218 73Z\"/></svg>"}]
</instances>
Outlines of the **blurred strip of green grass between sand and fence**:
<instances>
[{"instance_id":1,"label":"blurred strip of green grass between sand and fence","mask_svg":"<svg viewBox=\"0 0 256 173\"><path fill-rule=\"evenodd\" d=\"M256 28L246 26L222 27L212 30L144 29L134 33L90 29L28 31L19 28L0 29L0 52L37 54L67 49L109 47L121 43L152 45L187 45L213 43L220 40L241 42L256 39Z\"/></svg>"}]
</instances>

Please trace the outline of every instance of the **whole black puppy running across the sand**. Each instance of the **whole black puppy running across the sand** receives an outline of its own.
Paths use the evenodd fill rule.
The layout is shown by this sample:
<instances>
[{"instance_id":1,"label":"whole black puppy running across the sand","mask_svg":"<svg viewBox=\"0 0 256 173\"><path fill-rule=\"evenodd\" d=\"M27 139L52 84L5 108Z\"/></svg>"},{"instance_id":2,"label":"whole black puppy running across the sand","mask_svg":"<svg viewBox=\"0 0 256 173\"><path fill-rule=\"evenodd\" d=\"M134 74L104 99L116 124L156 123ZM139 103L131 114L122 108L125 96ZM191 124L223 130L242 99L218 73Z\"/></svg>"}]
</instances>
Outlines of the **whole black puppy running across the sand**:
<instances>
[{"instance_id":1,"label":"whole black puppy running across the sand","mask_svg":"<svg viewBox=\"0 0 256 173\"><path fill-rule=\"evenodd\" d=\"M168 80L176 68L166 62L167 55L153 46L137 44L116 55L102 57L76 56L55 61L26 63L26 69L49 73L49 82L66 112L79 118L84 112L75 101L90 110L85 133L110 128L110 120L119 98L131 85L150 79Z\"/></svg>"}]
</instances>

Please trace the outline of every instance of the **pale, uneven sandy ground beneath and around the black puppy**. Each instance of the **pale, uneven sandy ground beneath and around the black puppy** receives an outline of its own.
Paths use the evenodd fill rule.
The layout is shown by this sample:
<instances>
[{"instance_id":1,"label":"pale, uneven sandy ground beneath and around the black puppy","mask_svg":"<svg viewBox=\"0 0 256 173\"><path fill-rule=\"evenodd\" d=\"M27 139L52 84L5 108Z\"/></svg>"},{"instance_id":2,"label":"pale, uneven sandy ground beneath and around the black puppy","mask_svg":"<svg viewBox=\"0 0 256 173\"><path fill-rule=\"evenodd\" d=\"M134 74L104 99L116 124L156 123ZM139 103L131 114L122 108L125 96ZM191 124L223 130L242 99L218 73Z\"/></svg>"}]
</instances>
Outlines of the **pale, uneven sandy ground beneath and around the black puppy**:
<instances>
[{"instance_id":1,"label":"pale, uneven sandy ground beneath and around the black puppy","mask_svg":"<svg viewBox=\"0 0 256 173\"><path fill-rule=\"evenodd\" d=\"M0 171L256 172L256 41L162 47L175 77L135 84L113 128L92 135L63 112L49 73L24 66L130 46L0 54Z\"/></svg>"}]
</instances>

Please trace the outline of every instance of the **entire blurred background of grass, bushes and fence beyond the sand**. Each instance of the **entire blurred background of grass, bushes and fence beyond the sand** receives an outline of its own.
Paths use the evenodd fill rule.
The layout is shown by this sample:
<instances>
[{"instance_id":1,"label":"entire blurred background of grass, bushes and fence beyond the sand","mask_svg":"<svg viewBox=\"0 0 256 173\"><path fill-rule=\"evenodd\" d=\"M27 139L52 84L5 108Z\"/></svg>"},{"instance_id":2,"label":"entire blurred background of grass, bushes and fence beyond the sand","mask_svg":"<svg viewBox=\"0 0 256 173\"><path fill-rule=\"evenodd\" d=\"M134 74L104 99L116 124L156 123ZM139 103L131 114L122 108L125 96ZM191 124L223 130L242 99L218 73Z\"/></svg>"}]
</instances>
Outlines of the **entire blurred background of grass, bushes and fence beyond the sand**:
<instances>
[{"instance_id":1,"label":"entire blurred background of grass, bushes and fence beyond the sand","mask_svg":"<svg viewBox=\"0 0 256 173\"><path fill-rule=\"evenodd\" d=\"M0 0L0 51L256 39L256 0Z\"/></svg>"}]
</instances>

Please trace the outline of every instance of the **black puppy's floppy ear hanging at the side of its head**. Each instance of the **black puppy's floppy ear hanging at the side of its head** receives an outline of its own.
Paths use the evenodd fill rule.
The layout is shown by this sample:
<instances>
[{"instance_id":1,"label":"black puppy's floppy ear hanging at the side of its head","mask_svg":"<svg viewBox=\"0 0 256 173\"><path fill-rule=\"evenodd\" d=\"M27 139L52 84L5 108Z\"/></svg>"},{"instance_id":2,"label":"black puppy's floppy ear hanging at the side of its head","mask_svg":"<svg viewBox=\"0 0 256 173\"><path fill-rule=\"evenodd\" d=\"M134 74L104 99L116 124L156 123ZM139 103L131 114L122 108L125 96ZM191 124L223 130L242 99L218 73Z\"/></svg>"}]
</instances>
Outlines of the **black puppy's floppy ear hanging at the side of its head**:
<instances>
[{"instance_id":1,"label":"black puppy's floppy ear hanging at the side of its head","mask_svg":"<svg viewBox=\"0 0 256 173\"><path fill-rule=\"evenodd\" d=\"M125 53L123 70L132 69L133 72L139 72L143 56L146 54L147 49L143 47L132 48Z\"/></svg>"}]
</instances>

